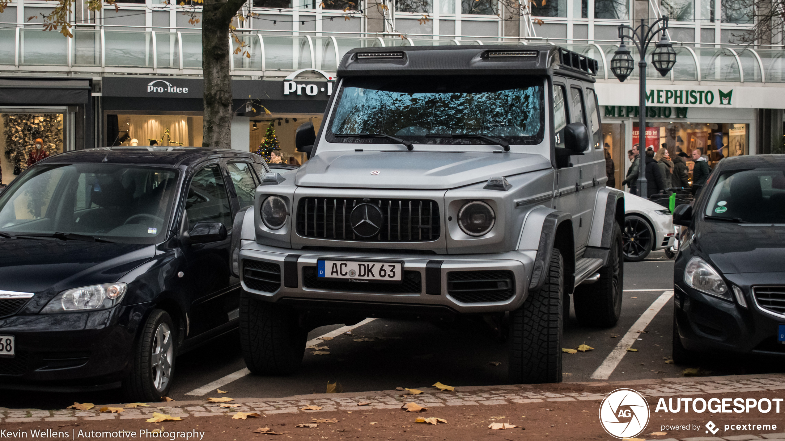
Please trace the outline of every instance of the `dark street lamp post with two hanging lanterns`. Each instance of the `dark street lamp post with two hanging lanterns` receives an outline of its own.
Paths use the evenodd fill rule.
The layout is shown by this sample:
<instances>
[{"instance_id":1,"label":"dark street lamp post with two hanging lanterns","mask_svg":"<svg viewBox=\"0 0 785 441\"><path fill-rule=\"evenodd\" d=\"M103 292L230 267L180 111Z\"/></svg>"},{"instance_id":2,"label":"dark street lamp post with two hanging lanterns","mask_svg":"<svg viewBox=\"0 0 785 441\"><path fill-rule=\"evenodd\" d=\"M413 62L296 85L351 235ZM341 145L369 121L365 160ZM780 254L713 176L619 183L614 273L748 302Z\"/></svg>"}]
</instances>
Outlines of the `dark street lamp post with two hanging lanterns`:
<instances>
[{"instance_id":1,"label":"dark street lamp post with two hanging lanterns","mask_svg":"<svg viewBox=\"0 0 785 441\"><path fill-rule=\"evenodd\" d=\"M659 42L655 43L652 65L664 77L676 64L676 51L668 41L665 32L668 29L668 17L663 16L651 26L646 21L646 19L641 19L641 24L634 29L626 24L619 25L619 38L621 38L622 44L619 45L619 49L611 59L611 71L616 78L619 78L619 81L623 82L633 73L635 66L630 49L624 45L624 39L633 42L638 50L638 82L640 85L638 115L641 119L638 123L638 160L640 162L638 163L637 191L640 197L648 197L648 189L646 188L646 51L657 34L661 35Z\"/></svg>"}]
</instances>

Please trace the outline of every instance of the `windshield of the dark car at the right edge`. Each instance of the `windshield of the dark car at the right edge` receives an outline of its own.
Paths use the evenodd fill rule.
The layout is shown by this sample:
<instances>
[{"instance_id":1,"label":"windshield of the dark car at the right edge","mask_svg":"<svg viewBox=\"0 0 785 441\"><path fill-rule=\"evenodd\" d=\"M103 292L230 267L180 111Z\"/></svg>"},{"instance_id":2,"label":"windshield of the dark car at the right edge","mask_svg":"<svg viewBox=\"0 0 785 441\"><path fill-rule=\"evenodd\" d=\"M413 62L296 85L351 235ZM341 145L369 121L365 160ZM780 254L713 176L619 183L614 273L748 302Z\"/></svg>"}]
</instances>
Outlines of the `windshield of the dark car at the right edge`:
<instances>
[{"instance_id":1,"label":"windshield of the dark car at the right edge","mask_svg":"<svg viewBox=\"0 0 785 441\"><path fill-rule=\"evenodd\" d=\"M723 173L711 190L706 215L739 222L785 223L785 170Z\"/></svg>"}]
</instances>

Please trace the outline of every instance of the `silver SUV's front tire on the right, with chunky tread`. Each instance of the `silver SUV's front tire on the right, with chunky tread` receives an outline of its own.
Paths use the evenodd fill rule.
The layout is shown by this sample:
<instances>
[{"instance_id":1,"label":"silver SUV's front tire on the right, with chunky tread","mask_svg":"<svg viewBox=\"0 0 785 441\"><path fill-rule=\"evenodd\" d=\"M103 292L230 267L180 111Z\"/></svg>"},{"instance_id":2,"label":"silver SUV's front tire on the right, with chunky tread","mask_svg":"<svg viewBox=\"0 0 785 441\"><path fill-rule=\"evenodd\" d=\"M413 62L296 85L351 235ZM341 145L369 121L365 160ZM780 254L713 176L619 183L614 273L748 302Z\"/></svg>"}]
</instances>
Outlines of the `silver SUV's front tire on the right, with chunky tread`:
<instances>
[{"instance_id":1,"label":"silver SUV's front tire on the right, with chunky tread","mask_svg":"<svg viewBox=\"0 0 785 441\"><path fill-rule=\"evenodd\" d=\"M561 381L563 268L554 248L545 283L509 313L510 384Z\"/></svg>"}]
</instances>

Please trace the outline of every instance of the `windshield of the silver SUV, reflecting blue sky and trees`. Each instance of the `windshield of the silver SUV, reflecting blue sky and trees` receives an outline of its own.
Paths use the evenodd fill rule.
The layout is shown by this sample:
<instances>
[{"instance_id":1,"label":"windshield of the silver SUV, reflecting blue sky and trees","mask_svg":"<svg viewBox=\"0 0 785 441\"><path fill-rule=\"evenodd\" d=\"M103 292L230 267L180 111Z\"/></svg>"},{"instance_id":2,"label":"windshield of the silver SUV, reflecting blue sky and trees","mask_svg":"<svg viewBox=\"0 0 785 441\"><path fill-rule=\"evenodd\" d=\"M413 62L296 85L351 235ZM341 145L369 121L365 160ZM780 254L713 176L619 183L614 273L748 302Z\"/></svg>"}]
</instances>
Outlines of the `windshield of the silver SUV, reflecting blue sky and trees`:
<instances>
[{"instance_id":1,"label":"windshield of the silver SUV, reflecting blue sky and trees","mask_svg":"<svg viewBox=\"0 0 785 441\"><path fill-rule=\"evenodd\" d=\"M327 139L395 143L367 136L383 134L420 144L495 144L469 137L483 135L539 144L545 126L542 85L531 77L502 75L348 78Z\"/></svg>"}]
</instances>

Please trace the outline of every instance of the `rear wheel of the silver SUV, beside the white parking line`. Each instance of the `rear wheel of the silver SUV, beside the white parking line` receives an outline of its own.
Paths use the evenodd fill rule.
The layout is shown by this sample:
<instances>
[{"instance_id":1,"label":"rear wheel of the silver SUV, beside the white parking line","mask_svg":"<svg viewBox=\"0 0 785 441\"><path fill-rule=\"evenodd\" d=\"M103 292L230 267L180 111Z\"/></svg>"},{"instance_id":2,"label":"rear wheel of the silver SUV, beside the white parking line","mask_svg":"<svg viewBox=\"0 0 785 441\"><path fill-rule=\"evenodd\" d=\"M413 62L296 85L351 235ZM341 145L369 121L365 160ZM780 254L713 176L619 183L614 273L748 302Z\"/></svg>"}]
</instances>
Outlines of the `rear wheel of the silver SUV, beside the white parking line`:
<instances>
[{"instance_id":1,"label":"rear wheel of the silver SUV, beside the white parking line","mask_svg":"<svg viewBox=\"0 0 785 441\"><path fill-rule=\"evenodd\" d=\"M583 326L612 327L622 314L624 262L622 258L622 230L613 223L612 248L608 262L600 271L600 280L575 287L572 302L575 317Z\"/></svg>"}]
</instances>

